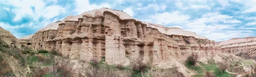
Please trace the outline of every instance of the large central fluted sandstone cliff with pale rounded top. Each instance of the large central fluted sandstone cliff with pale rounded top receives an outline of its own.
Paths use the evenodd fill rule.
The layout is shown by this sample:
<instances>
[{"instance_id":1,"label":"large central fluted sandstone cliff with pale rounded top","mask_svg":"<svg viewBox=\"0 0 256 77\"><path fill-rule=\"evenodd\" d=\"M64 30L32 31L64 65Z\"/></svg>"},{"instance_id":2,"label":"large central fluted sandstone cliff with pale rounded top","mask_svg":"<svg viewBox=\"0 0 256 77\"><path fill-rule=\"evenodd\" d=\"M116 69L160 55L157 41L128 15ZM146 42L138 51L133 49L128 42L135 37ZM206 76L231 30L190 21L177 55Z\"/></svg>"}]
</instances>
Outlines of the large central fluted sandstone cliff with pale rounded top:
<instances>
[{"instance_id":1,"label":"large central fluted sandstone cliff with pale rounded top","mask_svg":"<svg viewBox=\"0 0 256 77\"><path fill-rule=\"evenodd\" d=\"M161 63L172 58L185 60L191 53L210 57L220 52L218 45L206 37L144 23L118 10L95 9L65 19L55 23L57 30L35 33L32 48L55 50L71 59L87 61L105 57L108 64L124 65L131 59Z\"/></svg>"}]
</instances>

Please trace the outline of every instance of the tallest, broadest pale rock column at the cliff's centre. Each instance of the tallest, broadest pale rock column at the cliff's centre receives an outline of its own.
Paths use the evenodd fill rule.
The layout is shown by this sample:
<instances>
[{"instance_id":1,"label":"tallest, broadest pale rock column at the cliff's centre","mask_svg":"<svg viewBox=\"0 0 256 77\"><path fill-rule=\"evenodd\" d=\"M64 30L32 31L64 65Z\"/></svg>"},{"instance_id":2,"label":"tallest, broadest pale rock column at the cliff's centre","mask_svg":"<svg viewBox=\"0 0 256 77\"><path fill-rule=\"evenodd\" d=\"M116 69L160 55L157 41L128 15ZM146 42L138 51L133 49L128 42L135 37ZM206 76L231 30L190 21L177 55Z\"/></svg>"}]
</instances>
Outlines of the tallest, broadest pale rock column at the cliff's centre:
<instances>
[{"instance_id":1,"label":"tallest, broadest pale rock column at the cliff's centre","mask_svg":"<svg viewBox=\"0 0 256 77\"><path fill-rule=\"evenodd\" d=\"M108 64L122 64L125 61L125 46L122 44L120 23L115 15L105 11L105 57ZM134 25L135 27L135 25ZM135 29L136 32L136 29ZM137 36L137 35L136 35Z\"/></svg>"}]
</instances>

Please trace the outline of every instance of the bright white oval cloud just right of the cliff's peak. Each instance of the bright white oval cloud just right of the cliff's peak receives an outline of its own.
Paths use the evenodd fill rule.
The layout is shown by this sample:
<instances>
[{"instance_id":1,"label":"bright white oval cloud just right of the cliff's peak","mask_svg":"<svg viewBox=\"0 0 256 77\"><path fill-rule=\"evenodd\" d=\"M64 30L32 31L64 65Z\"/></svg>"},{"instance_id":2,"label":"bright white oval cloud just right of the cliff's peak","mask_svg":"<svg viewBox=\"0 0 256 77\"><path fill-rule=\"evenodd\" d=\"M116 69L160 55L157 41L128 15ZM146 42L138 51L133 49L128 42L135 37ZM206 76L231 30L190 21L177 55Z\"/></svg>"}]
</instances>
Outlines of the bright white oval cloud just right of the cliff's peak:
<instances>
[{"instance_id":1,"label":"bright white oval cloud just right of the cliff's peak","mask_svg":"<svg viewBox=\"0 0 256 77\"><path fill-rule=\"evenodd\" d=\"M155 14L150 17L151 20L145 20L147 22L153 22L161 25L169 24L169 23L182 23L189 19L188 15L180 14L179 11L175 12L163 12L160 14Z\"/></svg>"}]
</instances>

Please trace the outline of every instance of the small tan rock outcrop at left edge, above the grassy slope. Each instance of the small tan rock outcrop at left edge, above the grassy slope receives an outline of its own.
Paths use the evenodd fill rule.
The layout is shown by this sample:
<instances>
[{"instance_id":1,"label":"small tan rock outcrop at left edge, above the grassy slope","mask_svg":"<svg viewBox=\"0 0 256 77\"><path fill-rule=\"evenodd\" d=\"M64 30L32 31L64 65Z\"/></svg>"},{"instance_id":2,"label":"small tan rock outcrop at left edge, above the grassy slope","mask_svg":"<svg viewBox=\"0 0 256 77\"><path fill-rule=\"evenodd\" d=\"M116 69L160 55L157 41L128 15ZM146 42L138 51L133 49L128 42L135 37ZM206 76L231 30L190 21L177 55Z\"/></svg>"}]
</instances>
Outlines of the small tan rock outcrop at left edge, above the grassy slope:
<instances>
[{"instance_id":1,"label":"small tan rock outcrop at left edge, above the grassy slope","mask_svg":"<svg viewBox=\"0 0 256 77\"><path fill-rule=\"evenodd\" d=\"M16 37L10 31L3 29L1 26L0 38L2 38L2 40L4 40L8 45L11 45L11 43L16 41Z\"/></svg>"}]
</instances>

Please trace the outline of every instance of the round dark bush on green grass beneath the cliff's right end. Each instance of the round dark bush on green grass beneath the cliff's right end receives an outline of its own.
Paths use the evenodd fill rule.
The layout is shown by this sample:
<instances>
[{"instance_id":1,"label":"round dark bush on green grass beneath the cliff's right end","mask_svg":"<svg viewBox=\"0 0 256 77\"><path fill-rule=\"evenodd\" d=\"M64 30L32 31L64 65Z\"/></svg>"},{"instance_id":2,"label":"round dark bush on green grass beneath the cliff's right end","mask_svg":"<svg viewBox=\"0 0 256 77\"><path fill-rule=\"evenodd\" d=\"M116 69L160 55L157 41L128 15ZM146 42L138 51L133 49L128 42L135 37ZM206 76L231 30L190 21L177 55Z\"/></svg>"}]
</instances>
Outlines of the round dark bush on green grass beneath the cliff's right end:
<instances>
[{"instance_id":1,"label":"round dark bush on green grass beneath the cliff's right end","mask_svg":"<svg viewBox=\"0 0 256 77\"><path fill-rule=\"evenodd\" d=\"M189 63L190 65L195 65L196 62L198 60L198 55L195 53L192 53L188 59L186 60L187 63Z\"/></svg>"}]
</instances>

